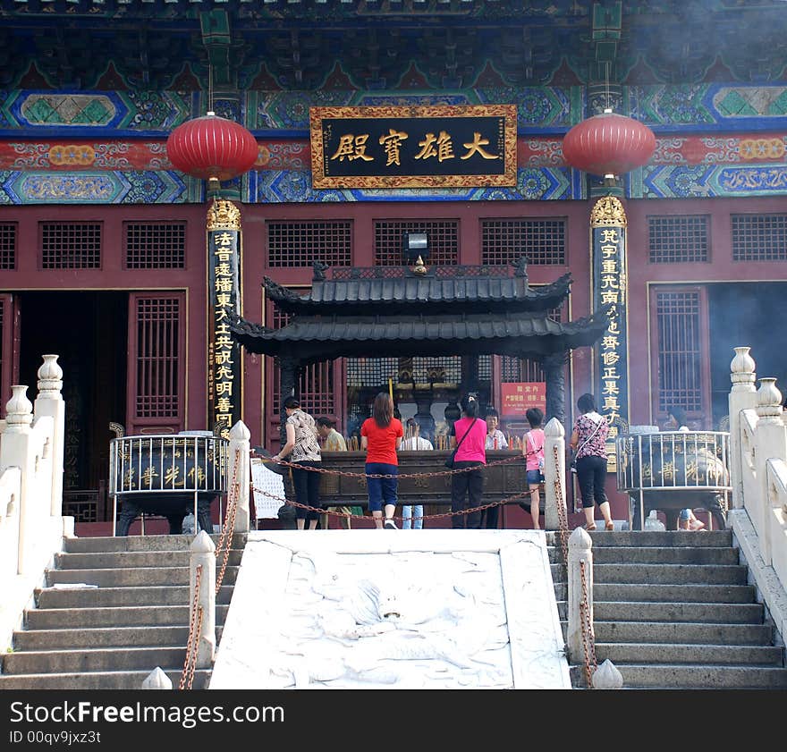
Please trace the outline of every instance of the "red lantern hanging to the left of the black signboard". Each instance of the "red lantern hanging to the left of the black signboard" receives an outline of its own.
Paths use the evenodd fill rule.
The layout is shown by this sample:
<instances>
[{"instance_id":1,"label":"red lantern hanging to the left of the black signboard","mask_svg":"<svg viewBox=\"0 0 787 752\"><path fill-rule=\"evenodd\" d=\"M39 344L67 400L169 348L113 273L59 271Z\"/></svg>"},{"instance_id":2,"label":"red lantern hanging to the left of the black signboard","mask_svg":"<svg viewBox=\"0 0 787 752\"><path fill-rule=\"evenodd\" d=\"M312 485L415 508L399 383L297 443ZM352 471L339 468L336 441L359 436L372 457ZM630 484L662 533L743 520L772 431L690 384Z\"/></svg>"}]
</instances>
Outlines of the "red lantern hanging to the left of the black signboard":
<instances>
[{"instance_id":1,"label":"red lantern hanging to the left of the black signboard","mask_svg":"<svg viewBox=\"0 0 787 752\"><path fill-rule=\"evenodd\" d=\"M225 181L251 169L257 139L239 123L214 113L182 123L166 139L166 154L183 173L208 181Z\"/></svg>"}]
</instances>

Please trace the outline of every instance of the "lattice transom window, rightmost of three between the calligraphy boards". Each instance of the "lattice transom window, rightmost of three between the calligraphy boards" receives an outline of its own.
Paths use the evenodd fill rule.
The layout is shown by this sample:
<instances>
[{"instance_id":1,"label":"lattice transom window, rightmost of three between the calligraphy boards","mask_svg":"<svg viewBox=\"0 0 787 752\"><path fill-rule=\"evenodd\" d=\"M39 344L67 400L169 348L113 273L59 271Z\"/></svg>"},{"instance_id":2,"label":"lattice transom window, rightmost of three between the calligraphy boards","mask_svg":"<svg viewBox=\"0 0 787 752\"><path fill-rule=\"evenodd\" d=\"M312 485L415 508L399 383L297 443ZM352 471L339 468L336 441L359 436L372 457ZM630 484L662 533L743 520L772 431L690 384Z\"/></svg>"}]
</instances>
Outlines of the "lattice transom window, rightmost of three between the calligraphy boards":
<instances>
[{"instance_id":1,"label":"lattice transom window, rightmost of three between the calligraphy boards","mask_svg":"<svg viewBox=\"0 0 787 752\"><path fill-rule=\"evenodd\" d=\"M481 221L484 264L515 264L522 256L533 265L565 264L566 220L557 217Z\"/></svg>"}]
</instances>

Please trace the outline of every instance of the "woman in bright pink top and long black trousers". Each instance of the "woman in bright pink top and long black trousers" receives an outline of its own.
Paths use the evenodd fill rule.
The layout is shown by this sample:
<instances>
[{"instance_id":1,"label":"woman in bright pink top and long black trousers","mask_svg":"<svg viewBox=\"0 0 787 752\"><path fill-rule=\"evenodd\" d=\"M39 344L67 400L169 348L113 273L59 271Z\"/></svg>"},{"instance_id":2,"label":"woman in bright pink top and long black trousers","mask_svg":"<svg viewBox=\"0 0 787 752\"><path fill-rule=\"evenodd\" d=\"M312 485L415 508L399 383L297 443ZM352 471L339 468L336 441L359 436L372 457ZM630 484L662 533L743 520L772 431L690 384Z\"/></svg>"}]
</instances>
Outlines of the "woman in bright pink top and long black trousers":
<instances>
[{"instance_id":1,"label":"woman in bright pink top and long black trousers","mask_svg":"<svg viewBox=\"0 0 787 752\"><path fill-rule=\"evenodd\" d=\"M484 473L482 468L487 464L487 421L478 418L478 398L475 394L466 394L461 398L459 418L451 428L451 448L458 447L453 461L454 469L469 469L456 473L451 477L451 523L453 528L481 527L481 512L473 511L464 514L467 509L481 505L481 494L484 493Z\"/></svg>"}]
</instances>

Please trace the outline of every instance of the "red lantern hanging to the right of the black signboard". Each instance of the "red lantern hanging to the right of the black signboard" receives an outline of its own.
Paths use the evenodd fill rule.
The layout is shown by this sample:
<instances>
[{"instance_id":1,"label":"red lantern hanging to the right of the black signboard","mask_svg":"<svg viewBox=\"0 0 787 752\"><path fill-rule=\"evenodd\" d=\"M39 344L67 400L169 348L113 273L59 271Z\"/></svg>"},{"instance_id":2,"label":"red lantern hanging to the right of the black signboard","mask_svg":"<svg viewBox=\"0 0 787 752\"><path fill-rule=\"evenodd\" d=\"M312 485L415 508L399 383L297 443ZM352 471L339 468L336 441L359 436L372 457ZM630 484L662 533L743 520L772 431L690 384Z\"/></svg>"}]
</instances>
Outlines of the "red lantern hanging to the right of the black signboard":
<instances>
[{"instance_id":1,"label":"red lantern hanging to the right of the black signboard","mask_svg":"<svg viewBox=\"0 0 787 752\"><path fill-rule=\"evenodd\" d=\"M647 125L611 110L578 123L563 138L566 164L594 175L622 175L647 165L656 136Z\"/></svg>"}]
</instances>

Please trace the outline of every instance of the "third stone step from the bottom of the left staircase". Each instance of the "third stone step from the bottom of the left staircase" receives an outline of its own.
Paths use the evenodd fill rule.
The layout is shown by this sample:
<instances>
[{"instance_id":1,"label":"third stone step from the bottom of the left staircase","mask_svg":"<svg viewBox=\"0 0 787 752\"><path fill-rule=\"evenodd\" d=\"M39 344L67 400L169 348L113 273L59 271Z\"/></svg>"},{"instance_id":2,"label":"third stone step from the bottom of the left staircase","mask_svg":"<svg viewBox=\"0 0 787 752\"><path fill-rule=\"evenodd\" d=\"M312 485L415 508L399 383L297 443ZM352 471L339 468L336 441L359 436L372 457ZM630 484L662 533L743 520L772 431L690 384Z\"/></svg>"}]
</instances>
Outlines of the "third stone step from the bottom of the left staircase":
<instances>
[{"instance_id":1,"label":"third stone step from the bottom of the left staircase","mask_svg":"<svg viewBox=\"0 0 787 752\"><path fill-rule=\"evenodd\" d=\"M184 649L188 640L188 621L176 626L28 629L13 633L13 649L39 651L148 646L176 646Z\"/></svg>"}]
</instances>

